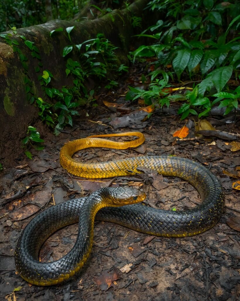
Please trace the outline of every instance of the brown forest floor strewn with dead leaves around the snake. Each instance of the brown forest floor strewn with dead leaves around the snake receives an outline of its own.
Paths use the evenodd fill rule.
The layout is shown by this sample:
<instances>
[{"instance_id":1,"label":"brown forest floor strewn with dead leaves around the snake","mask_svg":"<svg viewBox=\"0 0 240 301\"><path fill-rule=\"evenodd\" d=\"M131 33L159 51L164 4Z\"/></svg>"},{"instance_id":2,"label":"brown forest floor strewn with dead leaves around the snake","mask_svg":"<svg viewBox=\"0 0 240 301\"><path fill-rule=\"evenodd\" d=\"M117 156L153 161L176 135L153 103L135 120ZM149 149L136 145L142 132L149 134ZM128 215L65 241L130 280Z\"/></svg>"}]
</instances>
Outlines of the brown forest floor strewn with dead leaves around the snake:
<instances>
[{"instance_id":1,"label":"brown forest floor strewn with dead leaves around the snake","mask_svg":"<svg viewBox=\"0 0 240 301\"><path fill-rule=\"evenodd\" d=\"M126 102L124 96L127 85L137 80L135 73L131 83L126 82L115 93L99 95L98 107L83 110L82 115L75 118L73 128L65 129L57 137L48 131L44 137L45 149L32 151L33 160L22 155L16 158L14 167L1 172L0 197L1 203L5 203L0 209L1 300L233 301L239 298L239 232L226 223L227 219L240 216L239 191L232 189L232 182L236 180L229 177L240 165L239 151L232 152L219 138L177 141L173 133L185 124L176 114L177 104L168 110L156 110L150 119L142 122L143 115L148 113L138 110L139 105ZM103 100L117 105L107 107ZM129 118L131 113L134 115ZM123 119L118 119L121 116ZM125 127L118 128L124 122ZM218 123L215 126L218 130L236 132L237 126L239 129L239 119L236 123ZM187 126L194 132L193 120ZM123 184L140 186L147 194L149 206L182 210L199 203L196 189L179 178L164 177L167 185L161 188L152 181L154 175L153 178L145 175L90 181L68 174L59 163L60 149L67 141L93 134L136 130L146 136L143 146L137 149L86 149L73 157L92 163L164 154L199 161L223 184L226 208L220 221L205 233L186 238L149 236L96 221L91 255L77 275L53 287L28 284L15 273L16 242L28 222L41 212L41 208L46 209L53 202L61 203L86 196L101 187ZM117 141L124 139L128 138L116 138ZM41 260L62 257L73 247L76 235L77 224L55 232L41 248Z\"/></svg>"}]
</instances>

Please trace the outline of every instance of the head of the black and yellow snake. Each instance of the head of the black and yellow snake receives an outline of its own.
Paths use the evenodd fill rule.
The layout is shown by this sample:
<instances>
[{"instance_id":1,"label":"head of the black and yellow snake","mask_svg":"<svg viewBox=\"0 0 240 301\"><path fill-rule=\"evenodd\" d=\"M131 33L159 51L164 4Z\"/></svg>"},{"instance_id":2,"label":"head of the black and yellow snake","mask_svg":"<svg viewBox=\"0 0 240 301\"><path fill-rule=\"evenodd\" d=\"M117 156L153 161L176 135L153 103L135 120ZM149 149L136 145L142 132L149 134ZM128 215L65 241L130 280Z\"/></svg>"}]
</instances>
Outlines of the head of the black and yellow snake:
<instances>
[{"instance_id":1,"label":"head of the black and yellow snake","mask_svg":"<svg viewBox=\"0 0 240 301\"><path fill-rule=\"evenodd\" d=\"M107 206L123 206L142 202L146 198L146 194L139 189L130 187L114 187L108 188L109 197Z\"/></svg>"}]
</instances>

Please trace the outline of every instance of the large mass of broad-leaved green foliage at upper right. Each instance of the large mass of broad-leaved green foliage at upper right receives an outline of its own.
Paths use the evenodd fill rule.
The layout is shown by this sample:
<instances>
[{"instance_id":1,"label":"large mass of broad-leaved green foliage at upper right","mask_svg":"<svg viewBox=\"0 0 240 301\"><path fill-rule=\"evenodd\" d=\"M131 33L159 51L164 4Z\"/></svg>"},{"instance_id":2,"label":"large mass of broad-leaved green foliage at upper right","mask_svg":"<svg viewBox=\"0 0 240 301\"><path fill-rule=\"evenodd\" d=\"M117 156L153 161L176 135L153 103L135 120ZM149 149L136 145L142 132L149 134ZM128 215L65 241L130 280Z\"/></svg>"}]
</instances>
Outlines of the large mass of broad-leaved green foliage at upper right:
<instances>
[{"instance_id":1,"label":"large mass of broad-leaved green foliage at upper right","mask_svg":"<svg viewBox=\"0 0 240 301\"><path fill-rule=\"evenodd\" d=\"M225 114L236 108L238 90L232 91L231 97L229 91L227 95L221 91L229 90L229 79L233 74L236 77L239 74L240 36L237 29L240 25L240 1L152 0L148 8L165 10L167 18L165 22L158 20L138 35L149 38L153 43L141 45L131 53L131 58L133 62L153 58L150 60L153 71L149 73L152 83L149 90L138 93L132 90L136 88L129 87L129 93L134 92L135 98L144 98L147 104L156 102L162 105L162 98L184 101L179 109L181 119L189 114L199 118L207 116L211 107L219 101L219 107L226 107ZM158 93L156 79L163 78L168 83L170 78L181 81L189 77L193 82L194 79L198 82L202 79L193 91L174 95L174 98L173 95L163 97L160 91Z\"/></svg>"}]
</instances>

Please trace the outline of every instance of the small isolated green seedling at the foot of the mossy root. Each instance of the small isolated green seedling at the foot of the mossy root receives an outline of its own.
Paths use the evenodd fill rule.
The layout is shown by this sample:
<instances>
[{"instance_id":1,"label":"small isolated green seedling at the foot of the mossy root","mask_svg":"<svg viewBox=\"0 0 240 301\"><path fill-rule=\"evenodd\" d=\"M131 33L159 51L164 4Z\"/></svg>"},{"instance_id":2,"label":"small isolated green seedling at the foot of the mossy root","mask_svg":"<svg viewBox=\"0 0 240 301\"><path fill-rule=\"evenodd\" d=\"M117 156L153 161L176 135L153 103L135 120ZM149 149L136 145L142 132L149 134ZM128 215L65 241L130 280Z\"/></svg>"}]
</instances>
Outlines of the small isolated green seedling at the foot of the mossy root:
<instances>
[{"instance_id":1,"label":"small isolated green seedling at the foot of the mossy root","mask_svg":"<svg viewBox=\"0 0 240 301\"><path fill-rule=\"evenodd\" d=\"M22 139L22 146L24 148L25 155L32 160L32 154L28 150L30 147L33 147L37 151L44 149L43 139L40 138L40 133L33 126L29 126L26 137Z\"/></svg>"}]
</instances>

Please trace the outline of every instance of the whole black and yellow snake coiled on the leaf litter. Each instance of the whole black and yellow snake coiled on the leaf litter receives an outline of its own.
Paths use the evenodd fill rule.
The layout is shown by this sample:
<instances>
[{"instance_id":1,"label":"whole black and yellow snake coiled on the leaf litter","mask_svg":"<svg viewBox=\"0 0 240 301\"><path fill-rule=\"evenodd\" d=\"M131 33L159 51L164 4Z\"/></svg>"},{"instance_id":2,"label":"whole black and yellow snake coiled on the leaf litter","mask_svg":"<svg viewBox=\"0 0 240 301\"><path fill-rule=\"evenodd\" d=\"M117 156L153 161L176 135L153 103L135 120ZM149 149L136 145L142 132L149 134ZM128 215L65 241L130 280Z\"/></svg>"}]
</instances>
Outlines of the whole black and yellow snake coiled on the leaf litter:
<instances>
[{"instance_id":1,"label":"whole black and yellow snake coiled on the leaf litter","mask_svg":"<svg viewBox=\"0 0 240 301\"><path fill-rule=\"evenodd\" d=\"M120 136L138 138L122 142L102 138ZM36 285L52 285L78 272L91 252L95 218L163 237L188 237L216 225L224 210L223 187L217 176L198 162L175 156L138 156L88 164L72 158L74 153L88 147L126 149L144 141L140 132L91 135L64 144L60 163L69 173L91 179L136 175L141 173L139 167L147 167L189 182L199 192L201 203L187 210L156 209L140 203L146 194L136 188L108 187L88 197L49 207L30 221L17 242L16 271L24 280ZM53 262L40 262L38 253L44 241L59 228L76 222L79 226L73 249Z\"/></svg>"}]
</instances>

